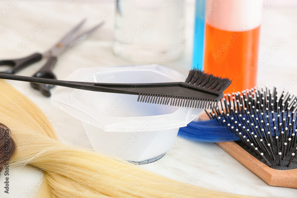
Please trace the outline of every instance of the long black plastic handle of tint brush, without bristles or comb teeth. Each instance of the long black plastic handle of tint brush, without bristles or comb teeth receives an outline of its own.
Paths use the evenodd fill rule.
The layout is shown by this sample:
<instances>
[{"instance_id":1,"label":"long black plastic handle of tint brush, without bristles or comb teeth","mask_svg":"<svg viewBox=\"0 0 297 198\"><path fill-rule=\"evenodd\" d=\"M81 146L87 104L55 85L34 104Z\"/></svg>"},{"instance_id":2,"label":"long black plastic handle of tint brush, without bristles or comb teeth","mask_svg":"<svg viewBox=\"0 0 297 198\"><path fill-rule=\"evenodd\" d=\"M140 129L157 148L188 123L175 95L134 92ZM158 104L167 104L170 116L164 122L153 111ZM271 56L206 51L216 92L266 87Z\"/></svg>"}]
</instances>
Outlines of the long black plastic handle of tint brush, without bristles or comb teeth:
<instances>
[{"instance_id":1,"label":"long black plastic handle of tint brush, without bristles or comb teeth","mask_svg":"<svg viewBox=\"0 0 297 198\"><path fill-rule=\"evenodd\" d=\"M0 74L0 78L8 80L20 80L31 83L42 83L50 85L58 85L63 87L89 90L89 91L100 91L118 94L158 94L158 95L170 95L170 96L181 96L181 97L192 97L192 98L203 98L220 100L223 97L223 93L214 91L208 88L192 85L184 82L173 82L173 83L130 83L130 84L119 84L119 83L88 83L88 82L75 82L75 81L64 81L38 77L27 77L17 76L10 74Z\"/></svg>"}]
</instances>

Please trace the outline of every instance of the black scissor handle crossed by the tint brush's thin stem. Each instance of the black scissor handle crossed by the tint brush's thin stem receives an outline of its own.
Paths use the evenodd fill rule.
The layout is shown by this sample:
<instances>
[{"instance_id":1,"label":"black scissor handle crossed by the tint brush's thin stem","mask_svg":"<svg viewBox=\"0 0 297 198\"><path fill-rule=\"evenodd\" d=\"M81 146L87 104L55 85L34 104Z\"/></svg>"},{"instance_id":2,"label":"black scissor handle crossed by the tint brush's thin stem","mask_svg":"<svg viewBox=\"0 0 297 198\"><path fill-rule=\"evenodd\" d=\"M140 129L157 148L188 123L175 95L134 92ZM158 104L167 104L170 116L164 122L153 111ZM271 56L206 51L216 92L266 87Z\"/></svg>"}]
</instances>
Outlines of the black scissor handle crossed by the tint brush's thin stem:
<instances>
[{"instance_id":1,"label":"black scissor handle crossed by the tint brush's thin stem","mask_svg":"<svg viewBox=\"0 0 297 198\"><path fill-rule=\"evenodd\" d=\"M54 79L56 80L57 77L53 74L51 71L53 67L55 66L55 63L57 61L56 57L50 57L48 58L48 61L46 64L38 71L36 72L33 77L38 78L48 78L48 79ZM38 84L38 81L36 83L31 83L31 87L34 89L39 90L42 95L50 97L50 89L53 88L55 85L47 85L47 84Z\"/></svg>"}]
</instances>

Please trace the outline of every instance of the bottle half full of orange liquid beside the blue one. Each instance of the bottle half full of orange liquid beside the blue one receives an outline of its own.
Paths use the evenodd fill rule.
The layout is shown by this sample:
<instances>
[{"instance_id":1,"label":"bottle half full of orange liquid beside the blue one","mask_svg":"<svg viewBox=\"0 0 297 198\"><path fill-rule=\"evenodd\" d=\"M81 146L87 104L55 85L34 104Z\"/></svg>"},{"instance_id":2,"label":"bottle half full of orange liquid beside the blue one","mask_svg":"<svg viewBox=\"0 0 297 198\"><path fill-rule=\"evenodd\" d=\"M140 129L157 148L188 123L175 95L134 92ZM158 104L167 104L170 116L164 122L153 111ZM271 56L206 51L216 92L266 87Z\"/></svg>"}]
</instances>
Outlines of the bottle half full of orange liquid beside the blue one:
<instances>
[{"instance_id":1,"label":"bottle half full of orange liquid beside the blue one","mask_svg":"<svg viewBox=\"0 0 297 198\"><path fill-rule=\"evenodd\" d=\"M253 88L261 21L259 0L207 0L204 71L228 77L232 84L224 93Z\"/></svg>"}]
</instances>

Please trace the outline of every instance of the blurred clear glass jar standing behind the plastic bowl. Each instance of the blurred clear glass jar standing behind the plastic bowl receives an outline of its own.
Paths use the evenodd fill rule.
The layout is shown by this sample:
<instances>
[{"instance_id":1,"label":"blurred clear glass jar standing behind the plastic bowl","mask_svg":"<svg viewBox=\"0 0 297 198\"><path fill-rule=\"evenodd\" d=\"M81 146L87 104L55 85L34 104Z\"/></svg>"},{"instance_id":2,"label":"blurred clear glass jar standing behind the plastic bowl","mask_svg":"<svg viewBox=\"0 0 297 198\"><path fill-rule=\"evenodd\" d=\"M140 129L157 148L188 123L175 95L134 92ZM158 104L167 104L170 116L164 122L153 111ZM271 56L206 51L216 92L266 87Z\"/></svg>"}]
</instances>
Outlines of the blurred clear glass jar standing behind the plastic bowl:
<instances>
[{"instance_id":1,"label":"blurred clear glass jar standing behind the plastic bowl","mask_svg":"<svg viewBox=\"0 0 297 198\"><path fill-rule=\"evenodd\" d=\"M118 0L113 51L136 63L162 64L185 45L183 0Z\"/></svg>"}]
</instances>

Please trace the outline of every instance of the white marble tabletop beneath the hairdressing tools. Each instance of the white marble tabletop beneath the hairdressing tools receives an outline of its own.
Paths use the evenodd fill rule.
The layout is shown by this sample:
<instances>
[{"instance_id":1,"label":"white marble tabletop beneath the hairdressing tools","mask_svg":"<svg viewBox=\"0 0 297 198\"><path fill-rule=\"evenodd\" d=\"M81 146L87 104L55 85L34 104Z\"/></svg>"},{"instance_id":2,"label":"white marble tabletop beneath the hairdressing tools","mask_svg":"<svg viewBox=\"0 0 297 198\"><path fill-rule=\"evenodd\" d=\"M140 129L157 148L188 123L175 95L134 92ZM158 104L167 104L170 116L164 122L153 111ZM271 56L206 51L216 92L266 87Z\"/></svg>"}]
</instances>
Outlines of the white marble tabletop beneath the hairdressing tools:
<instances>
[{"instance_id":1,"label":"white marble tabletop beneath the hairdressing tools","mask_svg":"<svg viewBox=\"0 0 297 198\"><path fill-rule=\"evenodd\" d=\"M73 1L67 5L63 1L18 1L4 15L3 9L6 10L10 3L11 1L0 1L0 59L44 52L82 18L88 18L86 28L101 21L101 12L109 7L109 3L96 1L89 3ZM116 58L111 50L113 11L105 18L106 23L102 28L81 45L75 47L75 50L56 66L54 73L58 79L66 78L80 67L133 64ZM192 1L187 2L186 13L187 40L184 56L178 61L163 64L185 75L191 68L192 59L194 18ZM266 53L269 53L269 57L258 68L258 85L276 85L278 88L290 85L290 90L297 93L295 80L297 76L296 13L297 9L290 7L273 8L271 6L264 11L259 57ZM44 20L48 20L49 23L38 35L34 34L34 39L23 50L17 52L16 48L20 47L20 43L29 38L34 29L42 25ZM278 39L284 39L284 42L271 53L269 47L275 45ZM44 61L24 69L18 75L31 76L42 64ZM290 84L290 82L292 83ZM18 81L9 81L9 83L21 93L25 93L29 88L29 83ZM53 120L52 124L61 142L73 145L78 138L83 136L82 124L52 104L50 98L45 98L35 90L28 92L27 96ZM167 154L157 162L141 167L184 182L189 182L196 177L194 185L225 191L226 197L232 197L232 194L262 197L297 196L297 189L267 185L216 144L181 140L180 137L176 138L177 142L178 140L180 143L171 154ZM85 138L80 146L87 148L90 144ZM0 190L0 197L34 197L36 186L40 181L40 172L31 167L11 169L10 171L12 175L10 196ZM26 178L28 181L22 180L22 178ZM3 177L1 177L0 183L3 181Z\"/></svg>"}]
</instances>

